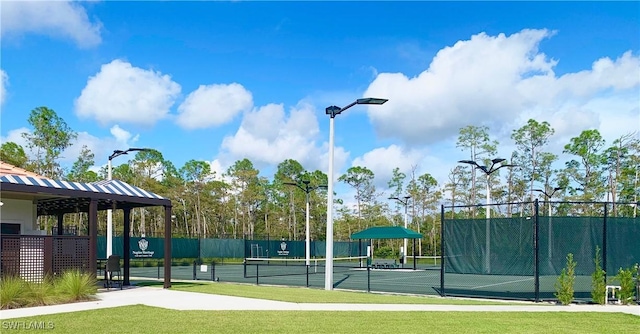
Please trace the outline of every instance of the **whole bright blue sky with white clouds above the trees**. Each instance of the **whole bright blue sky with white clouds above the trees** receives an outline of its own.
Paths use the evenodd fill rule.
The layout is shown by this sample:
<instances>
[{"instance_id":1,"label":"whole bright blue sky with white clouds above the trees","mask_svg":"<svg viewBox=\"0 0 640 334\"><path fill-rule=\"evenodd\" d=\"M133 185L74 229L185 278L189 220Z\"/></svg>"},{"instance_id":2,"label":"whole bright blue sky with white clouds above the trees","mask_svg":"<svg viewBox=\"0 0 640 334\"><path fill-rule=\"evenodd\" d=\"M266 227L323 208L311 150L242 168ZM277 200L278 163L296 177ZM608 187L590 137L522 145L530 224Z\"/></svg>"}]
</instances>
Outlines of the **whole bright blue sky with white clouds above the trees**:
<instances>
[{"instance_id":1,"label":"whole bright blue sky with white clouds above the trees","mask_svg":"<svg viewBox=\"0 0 640 334\"><path fill-rule=\"evenodd\" d=\"M336 177L395 167L444 184L459 129L489 126L499 155L529 118L610 144L640 129L638 2L5 2L2 141L54 109L103 166L152 147L179 168L223 172L285 159L327 171L325 108L388 98L336 117ZM115 164L124 163L114 161Z\"/></svg>"}]
</instances>

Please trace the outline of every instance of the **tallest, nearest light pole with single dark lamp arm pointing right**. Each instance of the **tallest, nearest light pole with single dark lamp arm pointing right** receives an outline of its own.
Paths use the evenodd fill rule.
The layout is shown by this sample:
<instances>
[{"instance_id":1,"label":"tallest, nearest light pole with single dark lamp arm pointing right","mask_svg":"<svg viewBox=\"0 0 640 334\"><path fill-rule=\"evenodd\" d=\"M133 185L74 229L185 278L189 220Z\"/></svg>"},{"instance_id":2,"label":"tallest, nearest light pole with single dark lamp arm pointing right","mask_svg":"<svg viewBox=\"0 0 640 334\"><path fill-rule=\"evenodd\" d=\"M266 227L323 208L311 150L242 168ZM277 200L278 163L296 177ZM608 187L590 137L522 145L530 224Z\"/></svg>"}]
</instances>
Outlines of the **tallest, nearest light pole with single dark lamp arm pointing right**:
<instances>
[{"instance_id":1,"label":"tallest, nearest light pole with single dark lamp arm pointing right","mask_svg":"<svg viewBox=\"0 0 640 334\"><path fill-rule=\"evenodd\" d=\"M333 119L336 115L340 115L343 111L355 106L356 104L384 104L387 99L363 98L357 99L344 108L330 106L325 109L329 115L329 172L327 186L327 251L325 255L326 268L324 276L325 290L333 290Z\"/></svg>"}]
</instances>

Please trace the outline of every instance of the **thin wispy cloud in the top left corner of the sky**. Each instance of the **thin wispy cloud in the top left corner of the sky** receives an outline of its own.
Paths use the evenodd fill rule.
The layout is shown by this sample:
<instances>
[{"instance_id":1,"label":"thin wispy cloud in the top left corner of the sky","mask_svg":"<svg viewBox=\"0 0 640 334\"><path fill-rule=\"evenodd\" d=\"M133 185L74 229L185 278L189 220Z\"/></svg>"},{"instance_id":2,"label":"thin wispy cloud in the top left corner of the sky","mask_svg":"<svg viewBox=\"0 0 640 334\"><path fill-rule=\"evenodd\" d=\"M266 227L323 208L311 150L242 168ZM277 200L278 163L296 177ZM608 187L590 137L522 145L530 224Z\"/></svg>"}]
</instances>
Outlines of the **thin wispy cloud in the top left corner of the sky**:
<instances>
[{"instance_id":1,"label":"thin wispy cloud in the top left corner of the sky","mask_svg":"<svg viewBox=\"0 0 640 334\"><path fill-rule=\"evenodd\" d=\"M2 1L2 37L23 33L72 39L79 47L102 41L102 24L90 20L85 8L71 1Z\"/></svg>"}]
</instances>

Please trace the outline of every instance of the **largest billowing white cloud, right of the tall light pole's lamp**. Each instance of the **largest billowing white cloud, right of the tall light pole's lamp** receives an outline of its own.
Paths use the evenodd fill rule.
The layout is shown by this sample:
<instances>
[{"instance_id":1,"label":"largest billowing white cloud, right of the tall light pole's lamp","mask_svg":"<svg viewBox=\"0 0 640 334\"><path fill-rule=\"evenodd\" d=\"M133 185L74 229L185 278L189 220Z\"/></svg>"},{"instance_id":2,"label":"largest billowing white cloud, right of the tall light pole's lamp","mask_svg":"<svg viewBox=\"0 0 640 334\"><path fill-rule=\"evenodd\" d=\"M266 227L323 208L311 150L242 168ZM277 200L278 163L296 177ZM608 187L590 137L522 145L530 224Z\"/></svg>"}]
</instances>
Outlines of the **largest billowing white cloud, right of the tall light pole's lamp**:
<instances>
[{"instance_id":1,"label":"largest billowing white cloud, right of the tall light pole's lamp","mask_svg":"<svg viewBox=\"0 0 640 334\"><path fill-rule=\"evenodd\" d=\"M481 33L440 50L417 77L380 73L364 95L389 102L370 108L369 117L379 135L409 145L455 138L470 124L490 126L508 138L526 122L520 123L525 116L561 119L568 112L566 106L584 110L601 94L615 96L640 83L640 58L630 52L616 60L599 59L590 70L556 76L557 61L538 50L540 42L553 35L548 30L522 30L510 36ZM637 105L637 91L627 95L627 103ZM613 100L602 97L603 104ZM603 113L597 113L603 122Z\"/></svg>"}]
</instances>

